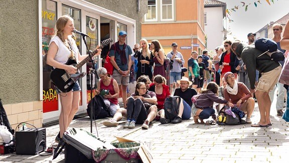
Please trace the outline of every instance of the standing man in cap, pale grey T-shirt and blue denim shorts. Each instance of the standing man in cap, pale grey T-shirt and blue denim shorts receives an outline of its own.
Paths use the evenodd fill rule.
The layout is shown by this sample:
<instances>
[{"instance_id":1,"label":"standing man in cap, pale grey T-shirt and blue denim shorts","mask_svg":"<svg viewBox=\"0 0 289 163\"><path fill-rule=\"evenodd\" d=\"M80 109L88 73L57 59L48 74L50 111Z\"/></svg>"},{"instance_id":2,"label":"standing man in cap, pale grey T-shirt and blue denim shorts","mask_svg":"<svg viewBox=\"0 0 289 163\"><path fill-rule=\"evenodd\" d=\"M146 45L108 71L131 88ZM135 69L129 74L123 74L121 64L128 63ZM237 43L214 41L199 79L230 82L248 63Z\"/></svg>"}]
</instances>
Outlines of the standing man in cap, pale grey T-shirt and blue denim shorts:
<instances>
[{"instance_id":1,"label":"standing man in cap, pale grey T-shirt and blue denim shorts","mask_svg":"<svg viewBox=\"0 0 289 163\"><path fill-rule=\"evenodd\" d=\"M172 43L172 51L167 54L167 57L174 60L173 63L173 69L171 70L171 75L170 75L170 84L171 84L171 94L173 91L173 86L174 83L176 84L176 88L179 88L179 84L177 83L177 80L180 80L182 78L182 65L184 65L185 60L183 58L182 53L177 51L178 49L178 44L177 43Z\"/></svg>"}]
</instances>

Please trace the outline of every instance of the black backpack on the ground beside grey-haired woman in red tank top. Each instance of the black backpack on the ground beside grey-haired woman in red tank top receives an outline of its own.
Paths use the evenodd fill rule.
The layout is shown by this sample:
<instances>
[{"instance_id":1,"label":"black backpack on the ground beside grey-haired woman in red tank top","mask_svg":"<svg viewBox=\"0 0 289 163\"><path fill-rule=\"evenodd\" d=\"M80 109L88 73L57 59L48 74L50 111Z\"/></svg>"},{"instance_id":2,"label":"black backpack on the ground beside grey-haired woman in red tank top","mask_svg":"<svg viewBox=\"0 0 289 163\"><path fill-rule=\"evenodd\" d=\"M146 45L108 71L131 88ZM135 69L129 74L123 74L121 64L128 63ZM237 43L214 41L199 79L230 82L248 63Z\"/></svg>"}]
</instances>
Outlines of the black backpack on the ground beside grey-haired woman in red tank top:
<instances>
[{"instance_id":1,"label":"black backpack on the ground beside grey-haired woman in red tank top","mask_svg":"<svg viewBox=\"0 0 289 163\"><path fill-rule=\"evenodd\" d=\"M86 112L90 118L91 118L91 115L90 115L91 105L93 106L93 111L94 111L94 115L92 116L92 119L101 119L101 118L106 118L106 117L111 116L101 96L96 95L92 99L92 102L91 101L88 102Z\"/></svg>"}]
</instances>

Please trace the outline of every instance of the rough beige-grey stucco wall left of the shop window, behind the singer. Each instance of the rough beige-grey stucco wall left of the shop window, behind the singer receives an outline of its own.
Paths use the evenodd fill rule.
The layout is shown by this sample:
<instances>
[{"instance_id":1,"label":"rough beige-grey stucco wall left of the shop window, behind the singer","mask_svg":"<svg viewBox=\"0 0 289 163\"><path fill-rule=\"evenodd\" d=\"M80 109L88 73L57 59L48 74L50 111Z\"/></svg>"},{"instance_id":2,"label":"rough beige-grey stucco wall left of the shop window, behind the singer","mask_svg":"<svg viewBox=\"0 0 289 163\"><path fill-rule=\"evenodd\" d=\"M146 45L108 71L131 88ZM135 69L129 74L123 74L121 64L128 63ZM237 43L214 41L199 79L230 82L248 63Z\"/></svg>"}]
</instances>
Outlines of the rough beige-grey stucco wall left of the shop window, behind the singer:
<instances>
[{"instance_id":1,"label":"rough beige-grey stucco wall left of the shop window, behind the singer","mask_svg":"<svg viewBox=\"0 0 289 163\"><path fill-rule=\"evenodd\" d=\"M4 104L39 100L38 1L2 1L0 98Z\"/></svg>"}]
</instances>

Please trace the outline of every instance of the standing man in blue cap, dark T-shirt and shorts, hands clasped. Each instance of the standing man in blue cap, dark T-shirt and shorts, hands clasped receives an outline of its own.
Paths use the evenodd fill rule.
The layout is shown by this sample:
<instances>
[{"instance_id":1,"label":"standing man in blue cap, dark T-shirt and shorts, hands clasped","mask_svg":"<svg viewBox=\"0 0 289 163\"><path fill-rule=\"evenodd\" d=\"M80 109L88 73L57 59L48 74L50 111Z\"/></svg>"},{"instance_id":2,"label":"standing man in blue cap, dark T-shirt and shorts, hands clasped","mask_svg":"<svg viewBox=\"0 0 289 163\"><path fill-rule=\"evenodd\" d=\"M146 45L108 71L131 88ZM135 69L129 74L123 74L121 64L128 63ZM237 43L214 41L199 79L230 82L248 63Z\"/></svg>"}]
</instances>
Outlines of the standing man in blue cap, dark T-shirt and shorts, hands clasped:
<instances>
[{"instance_id":1,"label":"standing man in blue cap, dark T-shirt and shorts, hands clasped","mask_svg":"<svg viewBox=\"0 0 289 163\"><path fill-rule=\"evenodd\" d=\"M129 82L131 66L131 48L125 44L126 32L118 33L118 41L111 45L109 50L110 62L113 65L112 77L116 80L119 90L121 90L123 106L126 108L126 89Z\"/></svg>"}]
</instances>

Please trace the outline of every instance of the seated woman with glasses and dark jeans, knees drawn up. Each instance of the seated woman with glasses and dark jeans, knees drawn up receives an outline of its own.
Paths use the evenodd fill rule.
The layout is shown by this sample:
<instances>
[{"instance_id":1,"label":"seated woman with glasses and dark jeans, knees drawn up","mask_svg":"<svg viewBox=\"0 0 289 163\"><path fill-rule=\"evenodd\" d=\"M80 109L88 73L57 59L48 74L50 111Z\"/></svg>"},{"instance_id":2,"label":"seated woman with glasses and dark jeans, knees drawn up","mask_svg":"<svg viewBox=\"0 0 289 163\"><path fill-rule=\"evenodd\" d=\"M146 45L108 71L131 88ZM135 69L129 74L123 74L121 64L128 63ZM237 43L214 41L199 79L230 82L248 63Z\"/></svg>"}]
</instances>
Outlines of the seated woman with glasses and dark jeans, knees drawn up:
<instances>
[{"instance_id":1,"label":"seated woman with glasses and dark jeans, knees drawn up","mask_svg":"<svg viewBox=\"0 0 289 163\"><path fill-rule=\"evenodd\" d=\"M126 99L127 117L123 128L134 128L135 124L142 124L145 122L148 117L148 110L157 102L156 97L154 102L147 101L146 99L151 99L151 96L148 93L145 83L136 83L135 93Z\"/></svg>"}]
</instances>

